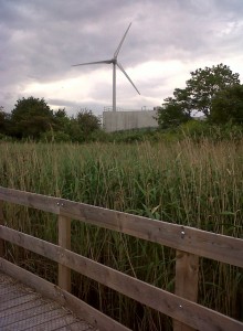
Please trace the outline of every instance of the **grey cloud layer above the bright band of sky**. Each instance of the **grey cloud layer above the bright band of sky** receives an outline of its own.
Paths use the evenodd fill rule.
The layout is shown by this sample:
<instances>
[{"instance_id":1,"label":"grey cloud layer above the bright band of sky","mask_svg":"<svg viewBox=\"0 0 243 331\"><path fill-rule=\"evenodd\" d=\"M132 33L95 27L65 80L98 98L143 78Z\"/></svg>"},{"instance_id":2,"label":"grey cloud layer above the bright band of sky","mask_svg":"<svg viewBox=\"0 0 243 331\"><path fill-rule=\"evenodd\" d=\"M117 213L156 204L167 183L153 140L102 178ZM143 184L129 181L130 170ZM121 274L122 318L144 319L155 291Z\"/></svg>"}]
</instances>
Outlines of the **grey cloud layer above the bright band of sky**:
<instances>
[{"instance_id":1,"label":"grey cloud layer above the bright band of sky","mask_svg":"<svg viewBox=\"0 0 243 331\"><path fill-rule=\"evenodd\" d=\"M241 54L243 49L242 0L0 0L0 9L3 106L30 82L95 71L94 66L75 71L71 65L112 57L130 21L119 54L125 70L146 61L219 60L219 54ZM223 33L229 24L234 28ZM151 87L159 84L165 85L162 77L161 83L150 82ZM148 85L139 88L154 95Z\"/></svg>"}]
</instances>

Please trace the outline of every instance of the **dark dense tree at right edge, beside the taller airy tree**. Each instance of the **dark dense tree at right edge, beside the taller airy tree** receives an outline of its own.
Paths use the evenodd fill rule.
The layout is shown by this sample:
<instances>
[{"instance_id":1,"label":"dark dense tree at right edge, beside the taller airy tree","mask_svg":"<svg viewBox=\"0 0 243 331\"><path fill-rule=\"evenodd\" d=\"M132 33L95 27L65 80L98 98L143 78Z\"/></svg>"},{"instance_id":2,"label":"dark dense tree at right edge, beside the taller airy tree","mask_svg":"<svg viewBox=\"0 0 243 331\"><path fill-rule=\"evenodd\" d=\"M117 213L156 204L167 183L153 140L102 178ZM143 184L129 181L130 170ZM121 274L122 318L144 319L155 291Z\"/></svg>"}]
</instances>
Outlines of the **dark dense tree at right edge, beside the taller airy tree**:
<instances>
[{"instance_id":1,"label":"dark dense tree at right edge, beside the taller airy tree","mask_svg":"<svg viewBox=\"0 0 243 331\"><path fill-rule=\"evenodd\" d=\"M214 124L243 124L243 85L218 92L212 99L210 120Z\"/></svg>"}]
</instances>

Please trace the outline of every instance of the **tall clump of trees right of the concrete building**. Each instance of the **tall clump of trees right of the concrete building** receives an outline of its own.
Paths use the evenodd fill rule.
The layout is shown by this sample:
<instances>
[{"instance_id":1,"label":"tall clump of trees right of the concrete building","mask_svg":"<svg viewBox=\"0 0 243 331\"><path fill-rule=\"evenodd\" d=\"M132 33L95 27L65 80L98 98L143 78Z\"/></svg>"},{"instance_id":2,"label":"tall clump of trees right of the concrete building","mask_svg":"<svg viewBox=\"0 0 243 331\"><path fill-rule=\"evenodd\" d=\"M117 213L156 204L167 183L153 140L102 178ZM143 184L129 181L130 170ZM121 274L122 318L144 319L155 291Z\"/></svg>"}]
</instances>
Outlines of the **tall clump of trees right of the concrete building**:
<instances>
[{"instance_id":1,"label":"tall clump of trees right of the concrete building","mask_svg":"<svg viewBox=\"0 0 243 331\"><path fill-rule=\"evenodd\" d=\"M243 85L239 74L222 63L191 73L186 88L176 88L158 110L160 129L170 129L197 116L211 125L243 124Z\"/></svg>"}]
</instances>

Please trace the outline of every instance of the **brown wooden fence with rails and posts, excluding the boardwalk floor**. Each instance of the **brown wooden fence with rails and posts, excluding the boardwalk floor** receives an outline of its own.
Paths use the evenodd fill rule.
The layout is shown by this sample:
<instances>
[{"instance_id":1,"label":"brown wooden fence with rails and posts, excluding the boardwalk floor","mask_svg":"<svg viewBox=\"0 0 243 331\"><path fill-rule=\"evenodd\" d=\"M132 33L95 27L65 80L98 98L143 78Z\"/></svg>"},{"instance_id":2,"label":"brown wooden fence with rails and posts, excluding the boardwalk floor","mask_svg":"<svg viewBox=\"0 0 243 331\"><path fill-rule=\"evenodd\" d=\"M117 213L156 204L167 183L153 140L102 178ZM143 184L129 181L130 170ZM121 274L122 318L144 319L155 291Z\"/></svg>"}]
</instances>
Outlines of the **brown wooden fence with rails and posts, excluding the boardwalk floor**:
<instances>
[{"instance_id":1,"label":"brown wooden fence with rails and posts, excluding the boardwalk floor","mask_svg":"<svg viewBox=\"0 0 243 331\"><path fill-rule=\"evenodd\" d=\"M57 214L59 245L4 226L3 202ZM71 220L175 248L177 250L175 293L71 252ZM59 287L6 260L4 241L56 261ZM242 331L242 322L197 303L199 257L242 268L243 239L64 199L0 188L0 269L67 305L101 330L128 329L70 293L71 269L171 317L175 331Z\"/></svg>"}]
</instances>

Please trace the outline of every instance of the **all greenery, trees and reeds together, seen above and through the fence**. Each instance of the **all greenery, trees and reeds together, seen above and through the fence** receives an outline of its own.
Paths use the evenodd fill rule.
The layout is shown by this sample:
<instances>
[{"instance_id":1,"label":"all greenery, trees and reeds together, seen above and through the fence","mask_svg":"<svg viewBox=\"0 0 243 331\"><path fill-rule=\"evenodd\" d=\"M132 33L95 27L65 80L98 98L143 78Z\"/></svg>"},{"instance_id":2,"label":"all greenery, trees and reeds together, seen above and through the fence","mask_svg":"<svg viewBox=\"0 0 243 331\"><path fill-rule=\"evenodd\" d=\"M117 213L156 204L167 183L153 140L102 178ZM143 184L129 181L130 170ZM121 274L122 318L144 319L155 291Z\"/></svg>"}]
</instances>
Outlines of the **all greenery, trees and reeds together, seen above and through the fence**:
<instances>
[{"instance_id":1,"label":"all greenery, trees and reeds together, seen above and through the fence","mask_svg":"<svg viewBox=\"0 0 243 331\"><path fill-rule=\"evenodd\" d=\"M0 107L0 185L242 238L242 121L243 85L223 64L191 73L165 99L155 130L106 134L92 110L68 117L22 98L11 114ZM55 216L13 205L4 214L9 226L56 243ZM173 249L76 221L72 236L74 252L173 291ZM6 254L56 281L53 263L14 245ZM169 318L95 281L75 273L72 281L73 292L134 330L171 330ZM240 319L242 287L240 268L201 258L200 303Z\"/></svg>"}]
</instances>

